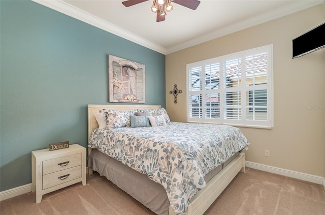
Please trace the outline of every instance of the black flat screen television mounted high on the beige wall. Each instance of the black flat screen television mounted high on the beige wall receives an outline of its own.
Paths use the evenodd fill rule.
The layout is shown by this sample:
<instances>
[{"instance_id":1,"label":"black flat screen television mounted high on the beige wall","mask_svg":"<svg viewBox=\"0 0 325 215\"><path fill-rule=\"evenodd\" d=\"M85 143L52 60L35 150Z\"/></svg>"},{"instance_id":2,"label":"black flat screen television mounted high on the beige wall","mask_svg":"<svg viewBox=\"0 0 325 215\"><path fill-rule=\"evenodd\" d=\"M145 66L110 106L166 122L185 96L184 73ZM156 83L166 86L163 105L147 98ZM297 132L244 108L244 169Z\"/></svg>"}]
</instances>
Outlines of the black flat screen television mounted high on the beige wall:
<instances>
[{"instance_id":1,"label":"black flat screen television mounted high on the beige wall","mask_svg":"<svg viewBox=\"0 0 325 215\"><path fill-rule=\"evenodd\" d=\"M293 58L325 47L325 22L293 39Z\"/></svg>"}]
</instances>

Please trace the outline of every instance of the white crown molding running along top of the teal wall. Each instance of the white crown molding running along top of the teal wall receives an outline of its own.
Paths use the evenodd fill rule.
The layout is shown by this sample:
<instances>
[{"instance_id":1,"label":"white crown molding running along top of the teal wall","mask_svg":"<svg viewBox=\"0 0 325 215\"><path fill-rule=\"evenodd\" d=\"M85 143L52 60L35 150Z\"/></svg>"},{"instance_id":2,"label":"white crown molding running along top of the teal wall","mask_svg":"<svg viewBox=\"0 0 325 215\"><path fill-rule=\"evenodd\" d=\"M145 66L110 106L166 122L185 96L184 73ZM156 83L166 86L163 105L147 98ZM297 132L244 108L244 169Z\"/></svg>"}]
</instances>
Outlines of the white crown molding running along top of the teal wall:
<instances>
[{"instance_id":1,"label":"white crown molding running along top of the teal wall","mask_svg":"<svg viewBox=\"0 0 325 215\"><path fill-rule=\"evenodd\" d=\"M78 19L80 21L83 21L87 24L90 24L90 25L93 25L100 29L103 29L106 32L109 32L111 34L114 34L116 36L124 38L131 42L137 43L137 44L144 46L146 48L149 48L151 50L157 51L161 54L166 54L166 48L159 46L155 43L152 43L148 40L145 40L131 32L128 32L125 29L122 29L116 25L113 25L110 22L107 22L107 21L105 21L101 18L98 18L98 17L96 17L88 12L85 12L83 10L80 10L79 8L69 5L68 3L63 2L61 0L51 0L51 1L31 0L31 1L38 3L40 5L43 5L45 7L48 7L50 9L53 9L55 11L58 11L60 13L63 13L65 15L71 16L71 17Z\"/></svg>"}]
</instances>

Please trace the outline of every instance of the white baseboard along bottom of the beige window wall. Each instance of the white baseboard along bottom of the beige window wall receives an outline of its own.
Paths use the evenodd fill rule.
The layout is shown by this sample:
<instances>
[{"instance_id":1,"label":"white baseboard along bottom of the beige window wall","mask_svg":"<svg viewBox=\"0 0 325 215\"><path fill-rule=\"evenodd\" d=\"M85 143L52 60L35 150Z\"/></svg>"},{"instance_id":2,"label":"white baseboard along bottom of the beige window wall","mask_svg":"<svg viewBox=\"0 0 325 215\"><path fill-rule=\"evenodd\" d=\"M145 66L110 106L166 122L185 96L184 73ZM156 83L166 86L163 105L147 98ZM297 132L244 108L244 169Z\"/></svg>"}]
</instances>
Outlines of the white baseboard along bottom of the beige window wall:
<instances>
[{"instance_id":1,"label":"white baseboard along bottom of the beige window wall","mask_svg":"<svg viewBox=\"0 0 325 215\"><path fill-rule=\"evenodd\" d=\"M282 169L282 168L273 167L273 166L268 166L268 165L264 165L264 164L257 164L257 163L250 162L250 161L245 161L245 166L252 168L252 169L258 169L258 170L262 170L265 172L271 172L271 173L275 173L278 175L283 175L283 176L287 176L287 177L291 177L291 178L309 181L312 183L318 183L319 185L322 185L325 189L325 178L317 176L317 175L296 172L296 171Z\"/></svg>"}]
</instances>

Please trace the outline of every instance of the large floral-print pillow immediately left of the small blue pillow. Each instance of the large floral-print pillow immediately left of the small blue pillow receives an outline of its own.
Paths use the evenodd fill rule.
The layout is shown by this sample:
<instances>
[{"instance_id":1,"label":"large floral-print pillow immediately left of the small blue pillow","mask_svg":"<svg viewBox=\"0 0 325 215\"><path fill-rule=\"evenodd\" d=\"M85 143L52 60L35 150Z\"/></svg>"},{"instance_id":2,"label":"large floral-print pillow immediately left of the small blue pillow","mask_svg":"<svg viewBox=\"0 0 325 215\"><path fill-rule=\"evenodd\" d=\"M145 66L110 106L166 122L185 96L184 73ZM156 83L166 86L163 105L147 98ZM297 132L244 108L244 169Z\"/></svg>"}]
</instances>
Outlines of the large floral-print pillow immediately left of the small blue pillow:
<instances>
[{"instance_id":1,"label":"large floral-print pillow immediately left of the small blue pillow","mask_svg":"<svg viewBox=\"0 0 325 215\"><path fill-rule=\"evenodd\" d=\"M124 111L124 110L106 110L103 109L100 112L106 116L107 129L130 127L131 118L135 111Z\"/></svg>"}]
</instances>

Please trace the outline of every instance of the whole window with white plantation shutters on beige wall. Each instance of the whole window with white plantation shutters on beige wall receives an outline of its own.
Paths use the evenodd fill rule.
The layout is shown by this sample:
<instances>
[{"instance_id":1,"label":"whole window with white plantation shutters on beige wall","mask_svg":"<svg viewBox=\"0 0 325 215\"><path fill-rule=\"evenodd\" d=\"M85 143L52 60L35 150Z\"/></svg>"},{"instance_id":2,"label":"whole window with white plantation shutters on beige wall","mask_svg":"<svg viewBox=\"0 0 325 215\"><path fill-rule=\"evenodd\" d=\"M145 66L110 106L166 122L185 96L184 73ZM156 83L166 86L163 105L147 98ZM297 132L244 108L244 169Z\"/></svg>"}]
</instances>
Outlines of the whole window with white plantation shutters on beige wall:
<instances>
[{"instance_id":1,"label":"whole window with white plantation shutters on beige wall","mask_svg":"<svg viewBox=\"0 0 325 215\"><path fill-rule=\"evenodd\" d=\"M273 127L273 45L186 65L187 121Z\"/></svg>"}]
</instances>

